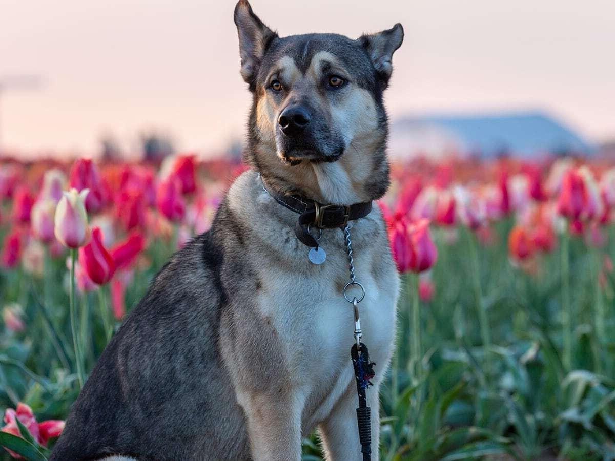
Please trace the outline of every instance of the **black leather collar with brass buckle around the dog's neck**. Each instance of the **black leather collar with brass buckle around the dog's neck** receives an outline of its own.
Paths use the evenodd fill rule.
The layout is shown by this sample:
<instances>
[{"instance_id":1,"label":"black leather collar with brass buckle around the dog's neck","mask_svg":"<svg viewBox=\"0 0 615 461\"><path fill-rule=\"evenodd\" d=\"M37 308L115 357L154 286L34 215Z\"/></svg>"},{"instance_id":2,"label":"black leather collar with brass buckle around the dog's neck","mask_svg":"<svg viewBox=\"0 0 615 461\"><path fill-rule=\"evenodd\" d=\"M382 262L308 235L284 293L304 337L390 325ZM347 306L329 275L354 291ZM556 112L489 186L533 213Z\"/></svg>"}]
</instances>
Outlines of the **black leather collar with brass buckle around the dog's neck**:
<instances>
[{"instance_id":1,"label":"black leather collar with brass buckle around the dog's neck","mask_svg":"<svg viewBox=\"0 0 615 461\"><path fill-rule=\"evenodd\" d=\"M352 205L323 205L315 200L301 197L301 195L284 195L270 191L265 186L264 181L263 189L280 205L284 205L288 210L295 211L299 215L295 224L295 235L301 243L311 247L318 246L316 238L312 237L309 232L314 227L318 229L343 228L346 227L348 221L365 218L371 211L371 202L354 203Z\"/></svg>"}]
</instances>

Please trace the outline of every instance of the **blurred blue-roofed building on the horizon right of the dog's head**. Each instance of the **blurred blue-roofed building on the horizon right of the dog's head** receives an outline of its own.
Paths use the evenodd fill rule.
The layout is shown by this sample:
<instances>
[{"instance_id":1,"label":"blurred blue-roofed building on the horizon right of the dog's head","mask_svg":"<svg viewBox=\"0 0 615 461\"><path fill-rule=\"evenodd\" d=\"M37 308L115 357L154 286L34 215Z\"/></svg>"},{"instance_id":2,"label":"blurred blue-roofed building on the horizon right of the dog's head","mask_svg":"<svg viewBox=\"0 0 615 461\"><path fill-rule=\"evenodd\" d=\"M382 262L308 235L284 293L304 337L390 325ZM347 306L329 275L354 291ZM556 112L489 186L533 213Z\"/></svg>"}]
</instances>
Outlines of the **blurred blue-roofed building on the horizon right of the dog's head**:
<instances>
[{"instance_id":1,"label":"blurred blue-roofed building on the horizon right of the dog's head","mask_svg":"<svg viewBox=\"0 0 615 461\"><path fill-rule=\"evenodd\" d=\"M403 117L392 122L389 151L393 156L491 158L590 156L597 148L549 114L528 111Z\"/></svg>"}]
</instances>

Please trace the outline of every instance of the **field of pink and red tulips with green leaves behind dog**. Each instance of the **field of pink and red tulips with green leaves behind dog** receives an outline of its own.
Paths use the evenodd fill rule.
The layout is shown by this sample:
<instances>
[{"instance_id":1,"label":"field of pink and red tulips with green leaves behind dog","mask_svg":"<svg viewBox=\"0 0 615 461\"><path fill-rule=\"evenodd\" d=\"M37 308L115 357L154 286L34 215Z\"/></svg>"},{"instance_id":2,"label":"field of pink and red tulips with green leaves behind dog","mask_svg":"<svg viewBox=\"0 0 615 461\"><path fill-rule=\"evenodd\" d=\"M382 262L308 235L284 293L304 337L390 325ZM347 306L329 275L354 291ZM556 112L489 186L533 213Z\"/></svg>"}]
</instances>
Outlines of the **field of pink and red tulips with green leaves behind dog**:
<instances>
[{"instance_id":1,"label":"field of pink and red tulips with green leaves behind dog","mask_svg":"<svg viewBox=\"0 0 615 461\"><path fill-rule=\"evenodd\" d=\"M46 459L122 319L245 168L0 160L0 460ZM403 281L380 459L615 460L615 163L398 161L379 205Z\"/></svg>"}]
</instances>

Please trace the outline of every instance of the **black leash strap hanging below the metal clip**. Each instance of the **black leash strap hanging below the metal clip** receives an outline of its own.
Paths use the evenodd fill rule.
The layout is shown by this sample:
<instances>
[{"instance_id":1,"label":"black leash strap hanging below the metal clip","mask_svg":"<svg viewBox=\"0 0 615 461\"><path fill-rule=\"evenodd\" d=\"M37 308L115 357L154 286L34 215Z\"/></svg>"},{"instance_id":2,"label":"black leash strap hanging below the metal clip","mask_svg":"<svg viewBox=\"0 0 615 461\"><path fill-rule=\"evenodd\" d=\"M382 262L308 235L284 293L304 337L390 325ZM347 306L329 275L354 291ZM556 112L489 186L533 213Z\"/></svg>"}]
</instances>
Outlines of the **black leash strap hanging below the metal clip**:
<instances>
[{"instance_id":1,"label":"black leash strap hanging below the metal clip","mask_svg":"<svg viewBox=\"0 0 615 461\"><path fill-rule=\"evenodd\" d=\"M352 358L352 366L354 367L354 377L357 381L357 394L359 395L357 423L359 424L361 452L363 453L363 461L370 461L371 418L370 407L367 406L367 398L365 398L365 390L371 385L370 379L375 376L373 369L375 363L370 362L370 354L367 350L367 346L363 343L360 343L360 345L360 350L357 350L357 345L353 344L350 355Z\"/></svg>"}]
</instances>

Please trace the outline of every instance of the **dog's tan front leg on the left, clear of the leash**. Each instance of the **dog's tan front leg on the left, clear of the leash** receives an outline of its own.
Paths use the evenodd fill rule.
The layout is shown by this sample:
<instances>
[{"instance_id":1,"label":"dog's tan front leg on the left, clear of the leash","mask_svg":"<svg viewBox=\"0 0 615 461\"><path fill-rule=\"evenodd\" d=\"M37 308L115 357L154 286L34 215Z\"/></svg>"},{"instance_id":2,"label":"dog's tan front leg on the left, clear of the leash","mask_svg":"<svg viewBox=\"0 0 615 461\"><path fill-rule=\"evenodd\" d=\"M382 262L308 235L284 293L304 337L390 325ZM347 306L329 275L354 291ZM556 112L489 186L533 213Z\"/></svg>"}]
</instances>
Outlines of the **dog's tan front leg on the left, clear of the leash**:
<instances>
[{"instance_id":1,"label":"dog's tan front leg on the left, clear of the leash","mask_svg":"<svg viewBox=\"0 0 615 461\"><path fill-rule=\"evenodd\" d=\"M301 403L285 392L252 393L242 399L255 461L301 460Z\"/></svg>"}]
</instances>

